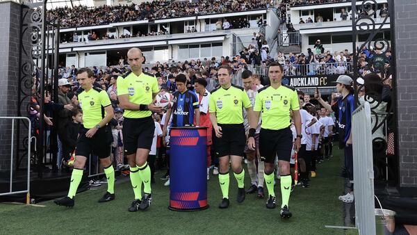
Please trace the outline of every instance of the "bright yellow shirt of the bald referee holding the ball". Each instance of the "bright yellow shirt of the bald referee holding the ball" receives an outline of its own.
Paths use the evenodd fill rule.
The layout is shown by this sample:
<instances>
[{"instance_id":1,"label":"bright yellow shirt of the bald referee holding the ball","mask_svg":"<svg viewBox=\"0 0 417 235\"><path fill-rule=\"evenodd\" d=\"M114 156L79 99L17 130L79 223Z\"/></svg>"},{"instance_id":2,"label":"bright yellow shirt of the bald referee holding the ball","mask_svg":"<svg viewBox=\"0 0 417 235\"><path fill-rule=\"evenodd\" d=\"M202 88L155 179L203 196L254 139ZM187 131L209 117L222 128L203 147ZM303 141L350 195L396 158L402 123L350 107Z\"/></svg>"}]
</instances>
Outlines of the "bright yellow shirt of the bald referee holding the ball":
<instances>
[{"instance_id":1,"label":"bright yellow shirt of the bald referee holding the ball","mask_svg":"<svg viewBox=\"0 0 417 235\"><path fill-rule=\"evenodd\" d=\"M128 72L117 78L117 95L129 95L133 104L151 104L152 93L158 93L158 81L154 74L142 72L139 76ZM125 110L123 117L142 118L152 115L151 111Z\"/></svg>"}]
</instances>

